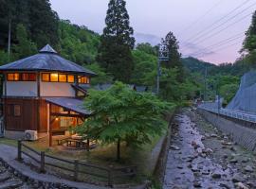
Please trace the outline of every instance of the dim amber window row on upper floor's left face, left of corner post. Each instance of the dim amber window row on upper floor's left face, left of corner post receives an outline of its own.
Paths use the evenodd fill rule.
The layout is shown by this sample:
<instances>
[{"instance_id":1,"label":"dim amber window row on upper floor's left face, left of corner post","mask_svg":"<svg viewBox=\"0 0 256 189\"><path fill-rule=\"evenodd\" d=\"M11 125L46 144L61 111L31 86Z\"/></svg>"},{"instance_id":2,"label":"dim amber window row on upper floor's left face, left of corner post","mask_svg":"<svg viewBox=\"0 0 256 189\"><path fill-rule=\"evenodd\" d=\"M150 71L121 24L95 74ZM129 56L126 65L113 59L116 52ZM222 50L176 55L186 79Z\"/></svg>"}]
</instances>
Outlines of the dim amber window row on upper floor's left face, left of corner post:
<instances>
[{"instance_id":1,"label":"dim amber window row on upper floor's left face, left of corner post","mask_svg":"<svg viewBox=\"0 0 256 189\"><path fill-rule=\"evenodd\" d=\"M35 73L9 73L7 74L8 81L36 81Z\"/></svg>"}]
</instances>

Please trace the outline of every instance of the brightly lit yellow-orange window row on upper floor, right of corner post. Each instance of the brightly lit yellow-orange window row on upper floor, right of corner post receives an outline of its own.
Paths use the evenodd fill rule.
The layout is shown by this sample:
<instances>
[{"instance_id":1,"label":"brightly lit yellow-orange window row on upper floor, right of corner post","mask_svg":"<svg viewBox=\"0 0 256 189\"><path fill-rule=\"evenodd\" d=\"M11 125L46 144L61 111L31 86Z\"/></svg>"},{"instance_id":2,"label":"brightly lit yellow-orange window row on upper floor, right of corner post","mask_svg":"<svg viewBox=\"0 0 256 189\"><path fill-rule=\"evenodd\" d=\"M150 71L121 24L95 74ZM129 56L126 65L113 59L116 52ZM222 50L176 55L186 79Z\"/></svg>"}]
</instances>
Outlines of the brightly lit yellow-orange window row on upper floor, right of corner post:
<instances>
[{"instance_id":1,"label":"brightly lit yellow-orange window row on upper floor, right of corner post","mask_svg":"<svg viewBox=\"0 0 256 189\"><path fill-rule=\"evenodd\" d=\"M75 82L73 75L58 74L58 73L43 73L42 81L44 82Z\"/></svg>"}]
</instances>

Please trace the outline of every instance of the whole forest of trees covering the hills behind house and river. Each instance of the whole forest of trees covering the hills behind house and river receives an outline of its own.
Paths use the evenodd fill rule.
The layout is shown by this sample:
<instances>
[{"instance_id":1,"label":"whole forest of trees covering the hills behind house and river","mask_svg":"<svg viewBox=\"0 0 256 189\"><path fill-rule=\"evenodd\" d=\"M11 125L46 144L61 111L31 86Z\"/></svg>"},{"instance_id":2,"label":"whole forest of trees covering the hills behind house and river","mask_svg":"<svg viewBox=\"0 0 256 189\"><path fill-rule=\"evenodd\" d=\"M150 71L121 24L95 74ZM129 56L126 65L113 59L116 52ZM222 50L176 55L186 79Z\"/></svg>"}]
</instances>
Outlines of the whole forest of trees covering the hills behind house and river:
<instances>
[{"instance_id":1,"label":"whole forest of trees covering the hills behind house and river","mask_svg":"<svg viewBox=\"0 0 256 189\"><path fill-rule=\"evenodd\" d=\"M106 26L100 35L86 26L60 20L49 0L0 0L0 64L35 54L49 43L64 58L95 71L99 77L92 84L120 80L146 85L155 92L158 46L136 44L133 34L124 1L110 0ZM181 58L178 40L170 31L159 42L172 57L161 62L160 96L181 102L204 94L208 99L221 94L229 101L239 78L255 66L249 63L256 60L255 13L246 35L241 58L233 64L216 66L192 57Z\"/></svg>"}]
</instances>

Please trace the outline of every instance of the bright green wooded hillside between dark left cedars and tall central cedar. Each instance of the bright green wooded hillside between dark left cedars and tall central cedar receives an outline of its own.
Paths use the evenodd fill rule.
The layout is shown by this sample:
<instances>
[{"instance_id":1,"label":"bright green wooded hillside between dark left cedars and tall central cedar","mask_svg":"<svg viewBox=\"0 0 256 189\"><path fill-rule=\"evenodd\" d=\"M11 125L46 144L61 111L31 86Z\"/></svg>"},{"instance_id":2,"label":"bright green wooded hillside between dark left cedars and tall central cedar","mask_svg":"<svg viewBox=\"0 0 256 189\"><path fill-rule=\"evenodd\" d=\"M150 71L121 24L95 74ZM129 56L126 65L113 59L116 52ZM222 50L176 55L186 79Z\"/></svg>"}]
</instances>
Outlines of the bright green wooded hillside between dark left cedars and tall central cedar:
<instances>
[{"instance_id":1,"label":"bright green wooded hillside between dark left cedars and tall central cedar","mask_svg":"<svg viewBox=\"0 0 256 189\"><path fill-rule=\"evenodd\" d=\"M67 60L88 64L96 60L100 36L85 26L72 25L69 21L59 24L60 51Z\"/></svg>"}]
</instances>

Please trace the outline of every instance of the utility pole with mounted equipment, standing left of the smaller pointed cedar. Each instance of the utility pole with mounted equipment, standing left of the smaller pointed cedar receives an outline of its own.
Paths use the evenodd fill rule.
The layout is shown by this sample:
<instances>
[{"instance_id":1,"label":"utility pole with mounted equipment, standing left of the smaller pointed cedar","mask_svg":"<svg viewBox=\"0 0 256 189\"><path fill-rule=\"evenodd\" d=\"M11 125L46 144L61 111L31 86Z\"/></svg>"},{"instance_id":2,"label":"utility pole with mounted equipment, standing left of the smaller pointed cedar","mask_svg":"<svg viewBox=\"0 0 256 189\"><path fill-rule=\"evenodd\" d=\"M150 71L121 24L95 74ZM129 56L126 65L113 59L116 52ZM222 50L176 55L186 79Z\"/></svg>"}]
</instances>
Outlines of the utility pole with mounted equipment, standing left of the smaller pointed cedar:
<instances>
[{"instance_id":1,"label":"utility pole with mounted equipment, standing left of the smaller pointed cedar","mask_svg":"<svg viewBox=\"0 0 256 189\"><path fill-rule=\"evenodd\" d=\"M158 51L158 60L157 60L157 76L156 76L156 94L159 94L160 91L160 76L161 76L161 61L169 60L169 52L167 48L160 44Z\"/></svg>"}]
</instances>

